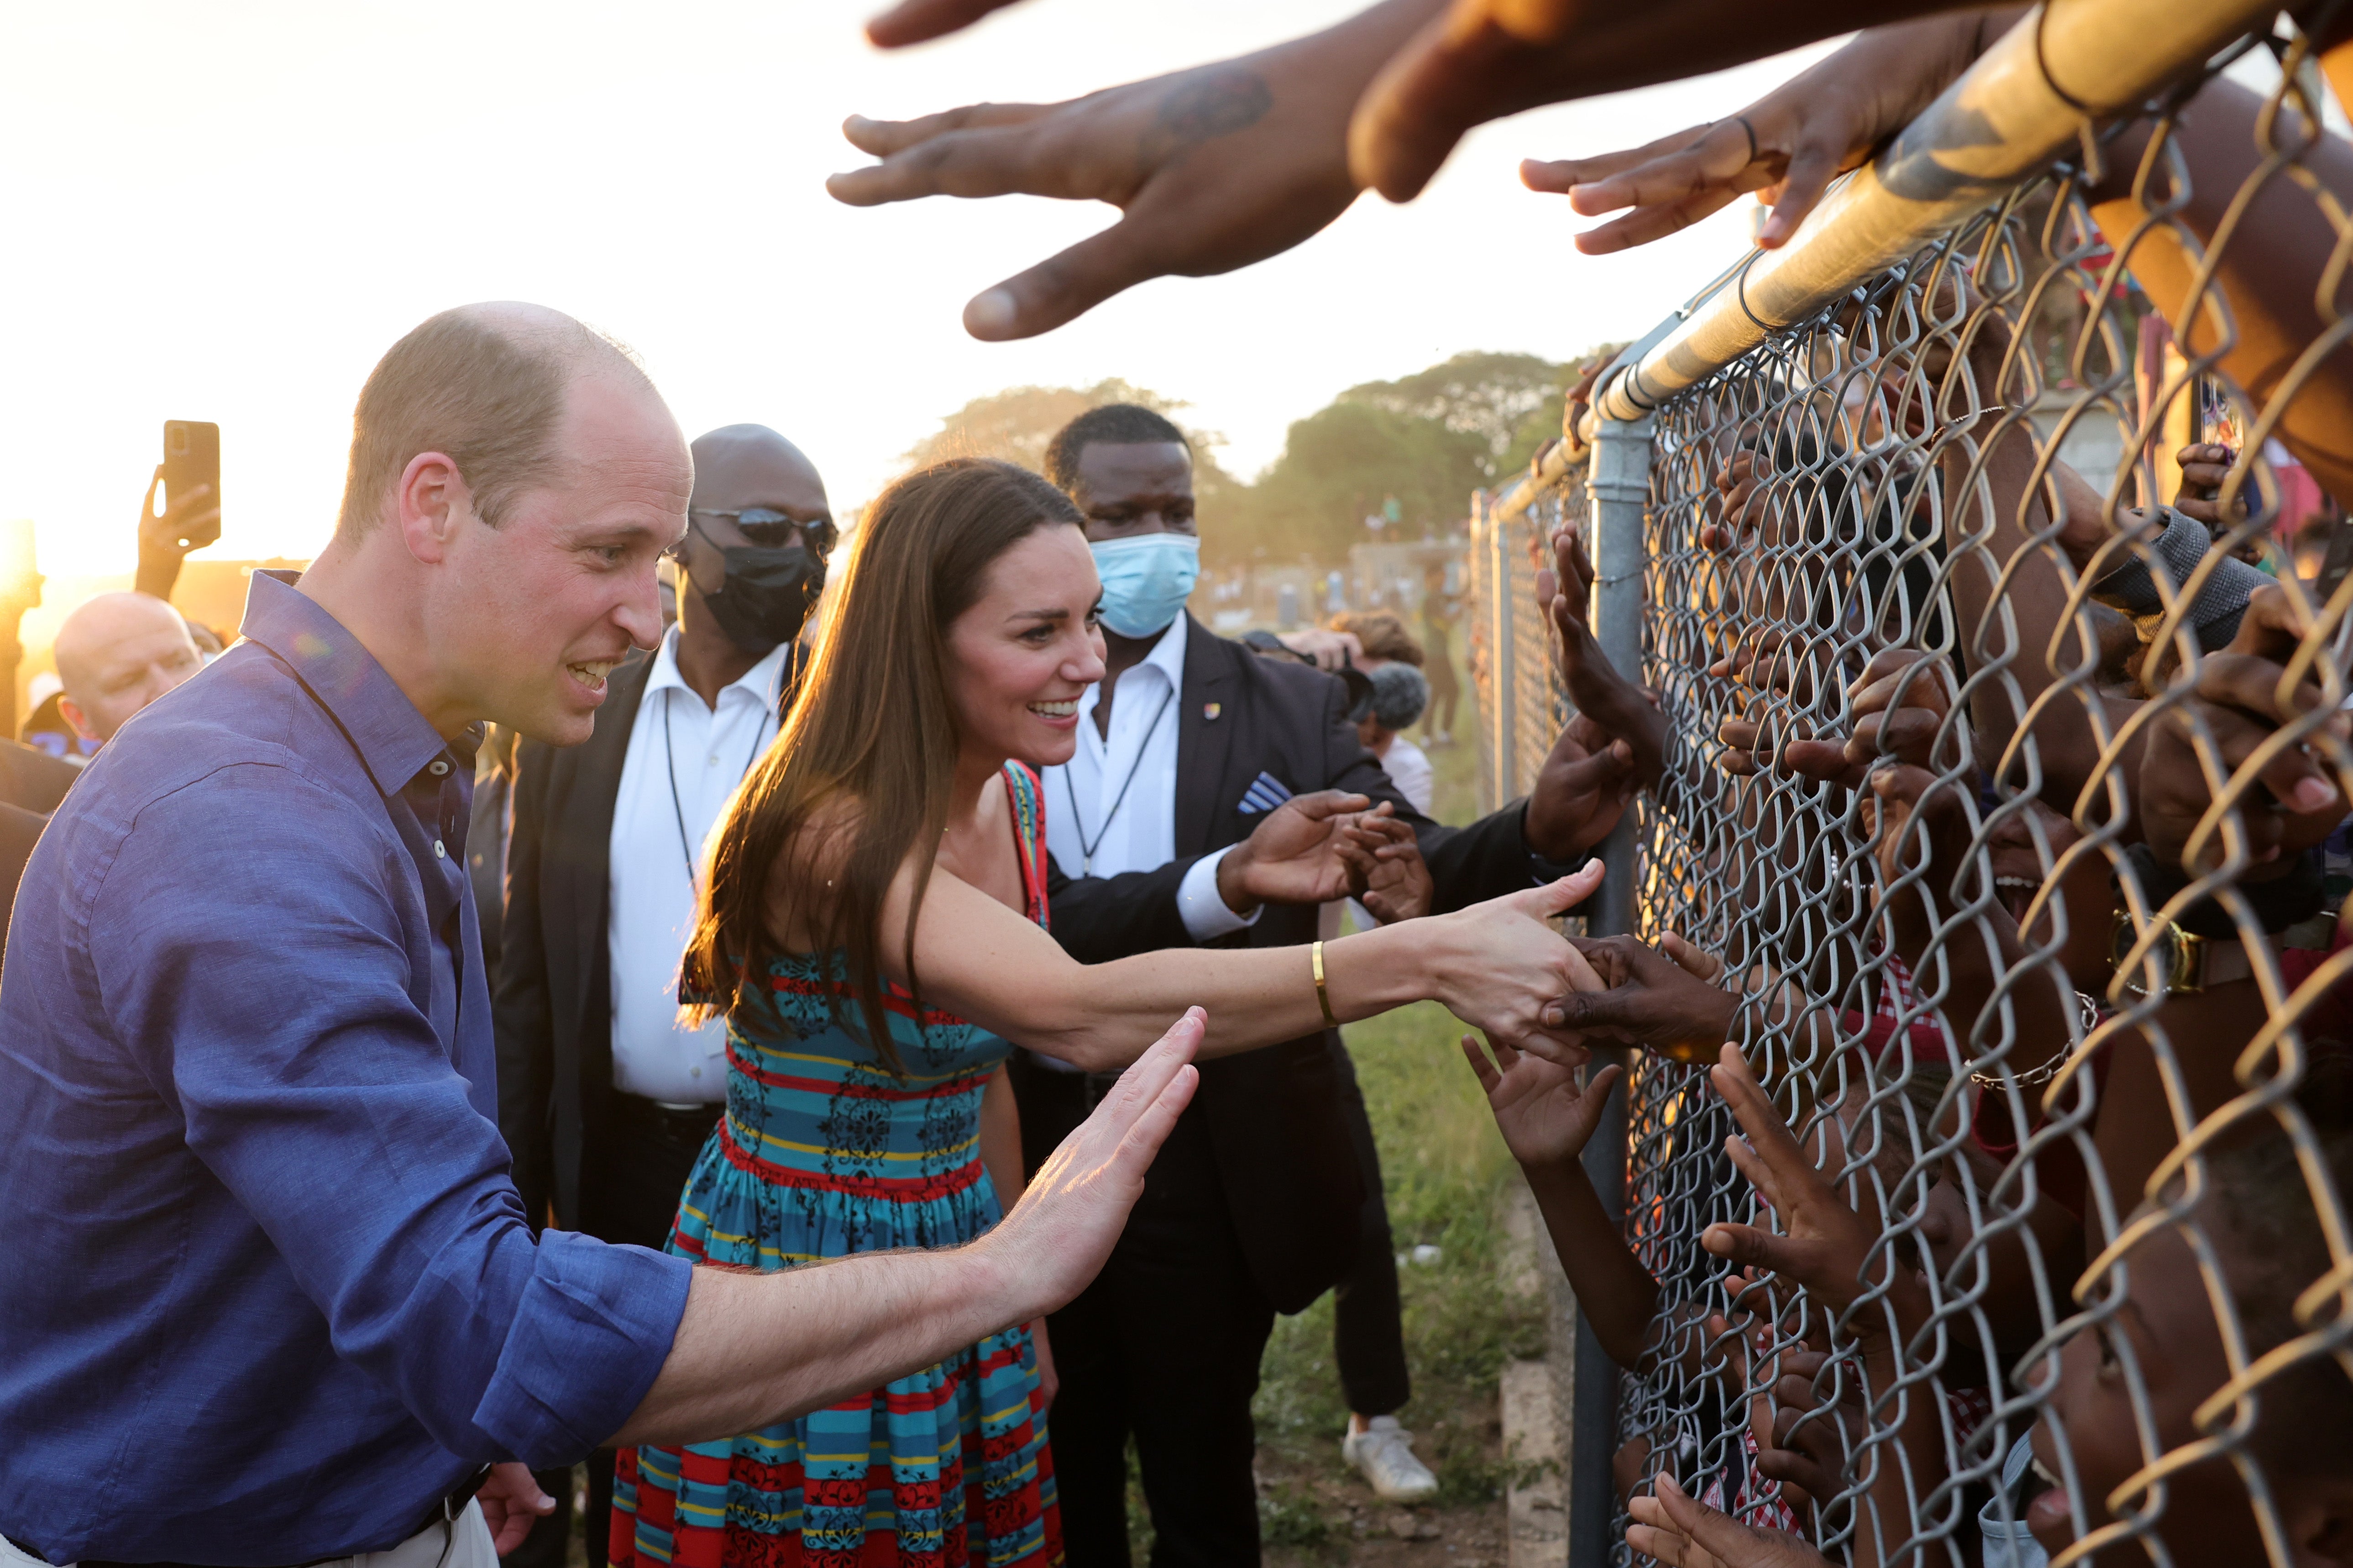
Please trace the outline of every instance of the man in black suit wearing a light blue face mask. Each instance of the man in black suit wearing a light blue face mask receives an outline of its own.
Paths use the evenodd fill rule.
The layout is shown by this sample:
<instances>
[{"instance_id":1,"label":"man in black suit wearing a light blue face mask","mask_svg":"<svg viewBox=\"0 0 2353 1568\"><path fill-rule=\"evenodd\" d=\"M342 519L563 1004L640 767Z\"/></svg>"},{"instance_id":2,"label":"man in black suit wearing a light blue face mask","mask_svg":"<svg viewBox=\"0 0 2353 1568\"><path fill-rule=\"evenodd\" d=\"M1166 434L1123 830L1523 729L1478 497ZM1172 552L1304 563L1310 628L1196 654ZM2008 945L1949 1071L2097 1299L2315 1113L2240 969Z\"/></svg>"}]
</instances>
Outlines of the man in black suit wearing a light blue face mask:
<instances>
[{"instance_id":1,"label":"man in black suit wearing a light blue face mask","mask_svg":"<svg viewBox=\"0 0 2353 1568\"><path fill-rule=\"evenodd\" d=\"M1247 898L1209 893L1231 882L1226 846L1285 795L1391 802L1428 863L1433 912L1445 912L1581 860L1633 783L1657 776L1659 726L1621 738L1581 717L1532 797L1442 827L1358 743L1339 679L1259 658L1184 614L1198 538L1191 449L1174 425L1127 404L1092 409L1054 440L1047 477L1087 515L1104 576L1106 675L1080 705L1080 755L1049 769L1045 790L1052 929L1082 961L1195 940L1313 940L1311 905L1266 907L1245 924ZM1586 675L1588 686L1600 679ZM1169 917L1169 896L1181 919ZM1014 1086L1033 1166L1104 1088L1028 1053ZM1346 1281L1344 1316L1360 1319L1362 1342L1362 1354L1344 1354L1358 1363L1344 1366L1351 1406L1386 1415L1405 1403L1386 1241L1353 1274L1360 1237L1386 1234L1377 1204L1372 1131L1334 1030L1202 1063L1193 1107L1153 1164L1111 1265L1049 1319L1061 1375L1054 1474L1075 1568L1127 1561L1129 1436L1158 1568L1257 1561L1249 1399L1275 1312L1299 1312Z\"/></svg>"}]
</instances>

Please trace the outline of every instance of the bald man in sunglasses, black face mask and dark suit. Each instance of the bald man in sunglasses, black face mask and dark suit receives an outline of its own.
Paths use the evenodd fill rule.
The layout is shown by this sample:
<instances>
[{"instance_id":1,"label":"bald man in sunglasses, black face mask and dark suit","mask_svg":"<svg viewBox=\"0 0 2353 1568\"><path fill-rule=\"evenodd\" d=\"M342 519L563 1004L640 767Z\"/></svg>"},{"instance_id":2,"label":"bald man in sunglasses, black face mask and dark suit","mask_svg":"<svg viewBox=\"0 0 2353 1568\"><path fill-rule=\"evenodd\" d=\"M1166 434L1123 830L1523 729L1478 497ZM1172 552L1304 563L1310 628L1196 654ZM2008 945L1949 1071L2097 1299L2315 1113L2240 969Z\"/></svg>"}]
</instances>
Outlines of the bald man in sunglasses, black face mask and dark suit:
<instances>
[{"instance_id":1,"label":"bald man in sunglasses, black face mask and dark suit","mask_svg":"<svg viewBox=\"0 0 2353 1568\"><path fill-rule=\"evenodd\" d=\"M659 1248L727 1100L727 1032L678 1025L704 837L776 738L826 583L816 465L767 425L694 442L678 625L609 677L586 745L515 752L494 1018L499 1131L532 1225ZM541 1476L558 1500L572 1488ZM602 1563L612 1453L588 1460ZM562 1530L544 1547L562 1561Z\"/></svg>"}]
</instances>

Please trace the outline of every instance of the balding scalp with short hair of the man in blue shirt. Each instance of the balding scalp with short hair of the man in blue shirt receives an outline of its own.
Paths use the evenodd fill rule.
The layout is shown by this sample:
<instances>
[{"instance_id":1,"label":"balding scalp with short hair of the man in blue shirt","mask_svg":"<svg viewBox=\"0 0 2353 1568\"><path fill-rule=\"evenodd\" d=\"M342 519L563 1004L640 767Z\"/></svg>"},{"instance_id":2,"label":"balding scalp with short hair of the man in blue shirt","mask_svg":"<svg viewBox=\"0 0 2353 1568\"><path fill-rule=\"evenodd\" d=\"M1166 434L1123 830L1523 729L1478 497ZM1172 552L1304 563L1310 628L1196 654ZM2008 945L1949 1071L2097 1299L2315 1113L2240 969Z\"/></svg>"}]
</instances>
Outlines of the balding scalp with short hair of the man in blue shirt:
<instances>
[{"instance_id":1,"label":"balding scalp with short hair of the man in blue shirt","mask_svg":"<svg viewBox=\"0 0 2353 1568\"><path fill-rule=\"evenodd\" d=\"M496 527L520 491L558 477L558 425L581 376L652 393L624 346L562 310L494 301L431 317L360 388L336 536L372 529L426 451L456 465L475 515Z\"/></svg>"}]
</instances>

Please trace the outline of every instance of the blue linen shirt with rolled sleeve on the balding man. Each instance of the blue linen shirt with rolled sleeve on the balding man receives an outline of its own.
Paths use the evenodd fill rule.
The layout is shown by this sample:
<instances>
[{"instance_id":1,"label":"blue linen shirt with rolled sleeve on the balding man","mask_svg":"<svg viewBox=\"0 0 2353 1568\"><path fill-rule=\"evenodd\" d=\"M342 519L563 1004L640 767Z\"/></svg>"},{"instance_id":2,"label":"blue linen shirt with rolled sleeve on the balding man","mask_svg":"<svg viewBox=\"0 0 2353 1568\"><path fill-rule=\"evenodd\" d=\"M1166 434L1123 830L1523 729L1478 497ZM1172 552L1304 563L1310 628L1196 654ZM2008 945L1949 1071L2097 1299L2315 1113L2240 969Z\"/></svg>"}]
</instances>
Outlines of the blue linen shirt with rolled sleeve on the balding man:
<instances>
[{"instance_id":1,"label":"blue linen shirt with rolled sleeve on the balding man","mask_svg":"<svg viewBox=\"0 0 2353 1568\"><path fill-rule=\"evenodd\" d=\"M52 1563L376 1552L654 1382L692 1267L532 1239L449 745L313 599L132 719L0 978L0 1535Z\"/></svg>"}]
</instances>

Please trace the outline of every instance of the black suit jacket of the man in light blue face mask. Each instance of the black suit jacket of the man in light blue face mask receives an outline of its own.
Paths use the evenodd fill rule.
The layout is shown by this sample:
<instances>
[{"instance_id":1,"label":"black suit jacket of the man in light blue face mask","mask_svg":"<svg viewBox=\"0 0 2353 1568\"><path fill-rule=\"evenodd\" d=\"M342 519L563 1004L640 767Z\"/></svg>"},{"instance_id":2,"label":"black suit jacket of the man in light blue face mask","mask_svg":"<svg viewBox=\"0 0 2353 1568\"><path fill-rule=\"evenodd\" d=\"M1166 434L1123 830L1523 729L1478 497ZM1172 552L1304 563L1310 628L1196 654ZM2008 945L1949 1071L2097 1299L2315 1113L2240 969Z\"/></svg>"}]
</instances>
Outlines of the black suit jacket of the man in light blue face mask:
<instances>
[{"instance_id":1,"label":"black suit jacket of the man in light blue face mask","mask_svg":"<svg viewBox=\"0 0 2353 1568\"><path fill-rule=\"evenodd\" d=\"M1217 717L1209 717L1209 705ZM1259 773L1294 795L1351 790L1391 802L1414 825L1438 886L1435 912L1532 886L1522 802L1471 827L1421 816L1355 738L1348 689L1299 663L1259 658L1198 621L1186 628L1176 698L1176 860L1122 877L1064 877L1049 867L1052 929L1071 957L1104 964L1158 947L1191 947L1176 889L1205 853L1257 827L1242 795ZM1221 938L1247 947L1315 940L1313 907L1268 907ZM1306 966L1301 961L1301 980ZM1341 1119L1332 1032L1200 1065L1188 1117L1209 1126L1226 1208L1252 1276L1280 1312L1299 1312L1355 1260L1362 1187Z\"/></svg>"}]
</instances>

